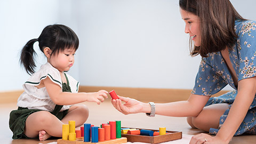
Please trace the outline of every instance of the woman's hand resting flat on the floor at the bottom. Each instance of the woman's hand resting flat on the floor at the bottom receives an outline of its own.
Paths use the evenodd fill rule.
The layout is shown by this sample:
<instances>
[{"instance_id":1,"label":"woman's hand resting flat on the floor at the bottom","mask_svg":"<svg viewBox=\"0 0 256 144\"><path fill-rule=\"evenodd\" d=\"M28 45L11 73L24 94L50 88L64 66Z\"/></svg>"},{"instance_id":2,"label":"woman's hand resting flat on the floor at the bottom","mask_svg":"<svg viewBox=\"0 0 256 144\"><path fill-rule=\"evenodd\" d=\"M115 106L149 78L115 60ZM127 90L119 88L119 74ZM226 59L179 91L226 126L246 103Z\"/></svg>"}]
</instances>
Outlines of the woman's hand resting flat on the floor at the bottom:
<instances>
[{"instance_id":1,"label":"woman's hand resting flat on the floor at the bottom","mask_svg":"<svg viewBox=\"0 0 256 144\"><path fill-rule=\"evenodd\" d=\"M204 144L209 144L209 143L218 143L218 144L222 144L222 143L227 143L223 140L221 140L219 137L212 137L209 134L205 134L205 133L201 133L201 134L197 134L195 136L193 136L189 142L189 144L199 144L199 143L204 143Z\"/></svg>"}]
</instances>

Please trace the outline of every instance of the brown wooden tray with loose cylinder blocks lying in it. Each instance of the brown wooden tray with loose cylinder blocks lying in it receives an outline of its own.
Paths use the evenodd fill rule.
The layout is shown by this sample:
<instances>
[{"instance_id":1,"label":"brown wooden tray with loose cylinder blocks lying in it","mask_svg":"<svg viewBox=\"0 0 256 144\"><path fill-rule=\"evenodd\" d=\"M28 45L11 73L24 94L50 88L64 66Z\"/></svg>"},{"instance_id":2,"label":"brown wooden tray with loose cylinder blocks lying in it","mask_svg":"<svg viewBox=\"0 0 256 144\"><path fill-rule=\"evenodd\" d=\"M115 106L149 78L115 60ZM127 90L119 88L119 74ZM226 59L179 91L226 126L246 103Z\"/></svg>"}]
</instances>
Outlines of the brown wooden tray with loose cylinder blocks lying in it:
<instances>
[{"instance_id":1,"label":"brown wooden tray with loose cylinder blocks lying in it","mask_svg":"<svg viewBox=\"0 0 256 144\"><path fill-rule=\"evenodd\" d=\"M128 128L128 127L122 127L122 128ZM130 129L137 129L137 128L131 128ZM141 130L141 129L139 129ZM143 130L149 130L149 129L143 129ZM158 131L158 130L151 130L151 131ZM132 135L132 134L121 134L122 137L126 137L127 141L129 142L145 142L145 143L161 143L166 141L172 141L172 140L178 140L182 138L182 132L174 132L174 131L166 131L169 134L165 135L157 135L157 136L145 136L145 135Z\"/></svg>"}]
</instances>

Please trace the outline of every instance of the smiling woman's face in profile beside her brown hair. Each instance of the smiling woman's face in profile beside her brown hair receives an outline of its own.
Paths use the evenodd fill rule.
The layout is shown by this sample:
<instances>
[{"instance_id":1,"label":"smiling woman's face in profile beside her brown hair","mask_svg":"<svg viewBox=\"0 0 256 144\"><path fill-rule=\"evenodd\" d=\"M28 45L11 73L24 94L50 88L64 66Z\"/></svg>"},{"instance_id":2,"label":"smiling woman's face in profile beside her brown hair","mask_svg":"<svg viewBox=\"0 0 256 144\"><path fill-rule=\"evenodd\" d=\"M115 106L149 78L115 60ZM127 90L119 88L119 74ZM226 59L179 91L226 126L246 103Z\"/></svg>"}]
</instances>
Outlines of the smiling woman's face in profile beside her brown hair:
<instances>
[{"instance_id":1,"label":"smiling woman's face in profile beside her brown hair","mask_svg":"<svg viewBox=\"0 0 256 144\"><path fill-rule=\"evenodd\" d=\"M201 46L200 18L190 12L180 9L181 18L185 21L185 33L189 34L195 46Z\"/></svg>"}]
</instances>

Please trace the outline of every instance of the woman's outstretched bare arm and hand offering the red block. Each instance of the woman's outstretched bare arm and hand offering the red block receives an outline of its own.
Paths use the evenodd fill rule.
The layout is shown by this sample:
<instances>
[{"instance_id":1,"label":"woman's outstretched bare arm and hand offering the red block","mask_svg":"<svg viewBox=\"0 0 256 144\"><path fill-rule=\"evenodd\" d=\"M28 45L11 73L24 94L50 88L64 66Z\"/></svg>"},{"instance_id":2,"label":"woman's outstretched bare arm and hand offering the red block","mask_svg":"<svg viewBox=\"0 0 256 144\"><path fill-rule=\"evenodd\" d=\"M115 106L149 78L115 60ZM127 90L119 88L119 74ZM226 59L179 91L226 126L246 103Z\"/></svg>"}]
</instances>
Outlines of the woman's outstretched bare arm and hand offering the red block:
<instances>
[{"instance_id":1,"label":"woman's outstretched bare arm and hand offering the red block","mask_svg":"<svg viewBox=\"0 0 256 144\"><path fill-rule=\"evenodd\" d=\"M113 106L121 113L150 113L150 105L135 99L118 96L119 99L112 100ZM187 101L177 101L170 103L156 103L156 114L175 117L196 117L205 106L210 97L190 94ZM122 101L125 103L122 104Z\"/></svg>"}]
</instances>

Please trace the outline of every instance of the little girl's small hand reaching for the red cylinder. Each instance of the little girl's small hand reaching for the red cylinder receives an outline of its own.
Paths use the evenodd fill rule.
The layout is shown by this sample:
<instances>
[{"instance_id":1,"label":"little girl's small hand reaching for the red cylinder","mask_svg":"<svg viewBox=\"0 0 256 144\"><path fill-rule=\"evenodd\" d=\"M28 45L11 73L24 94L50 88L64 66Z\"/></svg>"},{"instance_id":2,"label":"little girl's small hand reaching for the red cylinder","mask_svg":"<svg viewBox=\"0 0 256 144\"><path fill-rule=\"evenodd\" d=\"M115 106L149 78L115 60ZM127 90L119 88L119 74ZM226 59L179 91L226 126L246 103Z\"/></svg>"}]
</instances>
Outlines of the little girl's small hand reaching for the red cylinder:
<instances>
[{"instance_id":1,"label":"little girl's small hand reaching for the red cylinder","mask_svg":"<svg viewBox=\"0 0 256 144\"><path fill-rule=\"evenodd\" d=\"M108 98L107 91L100 90L98 92L89 92L87 94L87 101L90 102L97 102L98 105L100 105L100 102L103 102L105 99Z\"/></svg>"}]
</instances>

